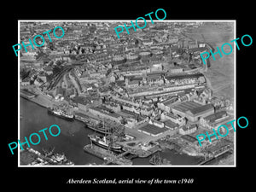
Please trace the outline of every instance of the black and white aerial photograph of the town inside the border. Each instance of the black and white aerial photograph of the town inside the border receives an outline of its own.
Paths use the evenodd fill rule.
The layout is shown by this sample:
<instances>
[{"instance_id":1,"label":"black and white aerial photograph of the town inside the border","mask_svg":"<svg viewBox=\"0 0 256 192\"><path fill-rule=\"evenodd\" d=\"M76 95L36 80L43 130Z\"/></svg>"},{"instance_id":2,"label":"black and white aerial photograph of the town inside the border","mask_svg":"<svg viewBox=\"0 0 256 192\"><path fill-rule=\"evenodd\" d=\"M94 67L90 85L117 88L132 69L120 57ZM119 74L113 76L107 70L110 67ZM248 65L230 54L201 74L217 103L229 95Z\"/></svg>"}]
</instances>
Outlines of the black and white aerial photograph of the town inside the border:
<instances>
[{"instance_id":1,"label":"black and white aerial photograph of the town inside the border","mask_svg":"<svg viewBox=\"0 0 256 192\"><path fill-rule=\"evenodd\" d=\"M19 24L20 166L236 166L235 20Z\"/></svg>"}]
</instances>

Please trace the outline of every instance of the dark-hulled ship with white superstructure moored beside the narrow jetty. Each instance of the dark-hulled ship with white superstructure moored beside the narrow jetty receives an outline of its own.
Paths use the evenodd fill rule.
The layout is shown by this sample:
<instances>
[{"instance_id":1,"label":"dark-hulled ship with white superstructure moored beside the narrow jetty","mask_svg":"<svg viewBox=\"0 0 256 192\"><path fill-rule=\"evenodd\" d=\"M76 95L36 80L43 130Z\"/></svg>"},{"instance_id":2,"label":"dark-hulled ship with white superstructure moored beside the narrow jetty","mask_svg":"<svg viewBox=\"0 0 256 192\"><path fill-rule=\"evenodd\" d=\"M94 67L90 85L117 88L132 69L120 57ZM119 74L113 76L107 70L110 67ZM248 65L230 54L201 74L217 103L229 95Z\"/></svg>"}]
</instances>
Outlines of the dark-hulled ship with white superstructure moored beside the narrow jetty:
<instances>
[{"instance_id":1,"label":"dark-hulled ship with white superstructure moored beside the narrow jetty","mask_svg":"<svg viewBox=\"0 0 256 192\"><path fill-rule=\"evenodd\" d=\"M117 153L123 152L122 146L112 143L110 140L108 140L106 138L106 136L100 136L97 134L93 134L93 135L88 135L88 137L90 138L91 143L93 143L99 147L106 148L106 149L109 149L109 150L111 150L113 152L117 152Z\"/></svg>"}]
</instances>

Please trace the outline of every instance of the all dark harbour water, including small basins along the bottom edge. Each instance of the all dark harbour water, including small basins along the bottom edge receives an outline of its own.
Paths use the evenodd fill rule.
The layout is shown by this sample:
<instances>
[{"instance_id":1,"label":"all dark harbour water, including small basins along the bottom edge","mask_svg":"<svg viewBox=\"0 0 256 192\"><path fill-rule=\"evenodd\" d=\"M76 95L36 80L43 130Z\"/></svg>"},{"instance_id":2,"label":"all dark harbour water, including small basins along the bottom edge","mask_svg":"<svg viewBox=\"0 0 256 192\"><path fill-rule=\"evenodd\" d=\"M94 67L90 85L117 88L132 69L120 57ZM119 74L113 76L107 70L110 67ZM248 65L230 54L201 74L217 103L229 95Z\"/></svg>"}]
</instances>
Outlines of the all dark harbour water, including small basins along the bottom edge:
<instances>
[{"instance_id":1,"label":"all dark harbour water, including small basins along the bottom edge","mask_svg":"<svg viewBox=\"0 0 256 192\"><path fill-rule=\"evenodd\" d=\"M84 123L74 120L69 122L47 113L47 109L38 104L27 101L20 97L20 140L29 137L33 132L38 132L50 125L59 125L61 134L57 137L52 137L49 131L45 131L48 140L45 141L43 133L40 133L41 142L38 145L31 147L43 153L42 148L55 148L55 153L64 153L68 160L72 160L75 165L83 166L95 163L102 164L103 161L97 157L84 152L84 145L90 143L88 134L93 133L88 128L84 128ZM35 139L36 140L36 139ZM35 141L36 143L37 141ZM165 150L160 153L162 158L171 160L172 165L196 165L199 158L189 156L187 154L177 154L175 151ZM136 158L133 160L133 165L149 165L148 158Z\"/></svg>"}]
</instances>

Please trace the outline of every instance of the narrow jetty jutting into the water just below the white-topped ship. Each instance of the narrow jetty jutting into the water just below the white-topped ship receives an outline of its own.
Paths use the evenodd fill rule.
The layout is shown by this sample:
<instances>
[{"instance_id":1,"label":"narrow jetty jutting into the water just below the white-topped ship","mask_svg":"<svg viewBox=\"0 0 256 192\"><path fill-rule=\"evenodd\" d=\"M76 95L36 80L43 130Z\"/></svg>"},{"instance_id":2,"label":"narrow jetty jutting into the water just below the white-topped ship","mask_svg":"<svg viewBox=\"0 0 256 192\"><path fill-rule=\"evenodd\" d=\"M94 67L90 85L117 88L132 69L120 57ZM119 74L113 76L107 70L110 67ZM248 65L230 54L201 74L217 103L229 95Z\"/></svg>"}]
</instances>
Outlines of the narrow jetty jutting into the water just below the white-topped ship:
<instances>
[{"instance_id":1,"label":"narrow jetty jutting into the water just below the white-topped ship","mask_svg":"<svg viewBox=\"0 0 256 192\"><path fill-rule=\"evenodd\" d=\"M114 154L112 151L108 151L107 149L100 148L94 144L88 144L84 146L84 151L88 154L95 155L96 157L105 160L105 165L115 164L119 166L131 166L132 161L124 158L123 154Z\"/></svg>"}]
</instances>

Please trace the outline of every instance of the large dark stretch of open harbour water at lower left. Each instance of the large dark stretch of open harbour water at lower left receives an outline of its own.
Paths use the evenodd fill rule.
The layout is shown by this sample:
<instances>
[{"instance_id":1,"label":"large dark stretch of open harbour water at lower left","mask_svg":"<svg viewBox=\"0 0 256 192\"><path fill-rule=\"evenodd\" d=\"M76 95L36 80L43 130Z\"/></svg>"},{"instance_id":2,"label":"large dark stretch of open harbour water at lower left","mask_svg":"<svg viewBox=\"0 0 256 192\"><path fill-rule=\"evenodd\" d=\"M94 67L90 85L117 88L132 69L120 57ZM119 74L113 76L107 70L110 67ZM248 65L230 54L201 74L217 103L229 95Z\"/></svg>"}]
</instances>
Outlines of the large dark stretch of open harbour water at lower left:
<instances>
[{"instance_id":1,"label":"large dark stretch of open harbour water at lower left","mask_svg":"<svg viewBox=\"0 0 256 192\"><path fill-rule=\"evenodd\" d=\"M55 147L56 153L64 153L68 160L72 160L75 165L85 165L88 163L102 164L102 160L84 153L84 145L90 143L87 134L93 131L84 129L84 124L75 120L68 122L64 119L49 115L47 109L38 106L33 102L20 97L20 138L28 137L32 132L38 132L50 125L59 125L61 134L58 137L48 137L45 141L41 137L41 143L32 148L43 153L42 148Z\"/></svg>"}]
</instances>

